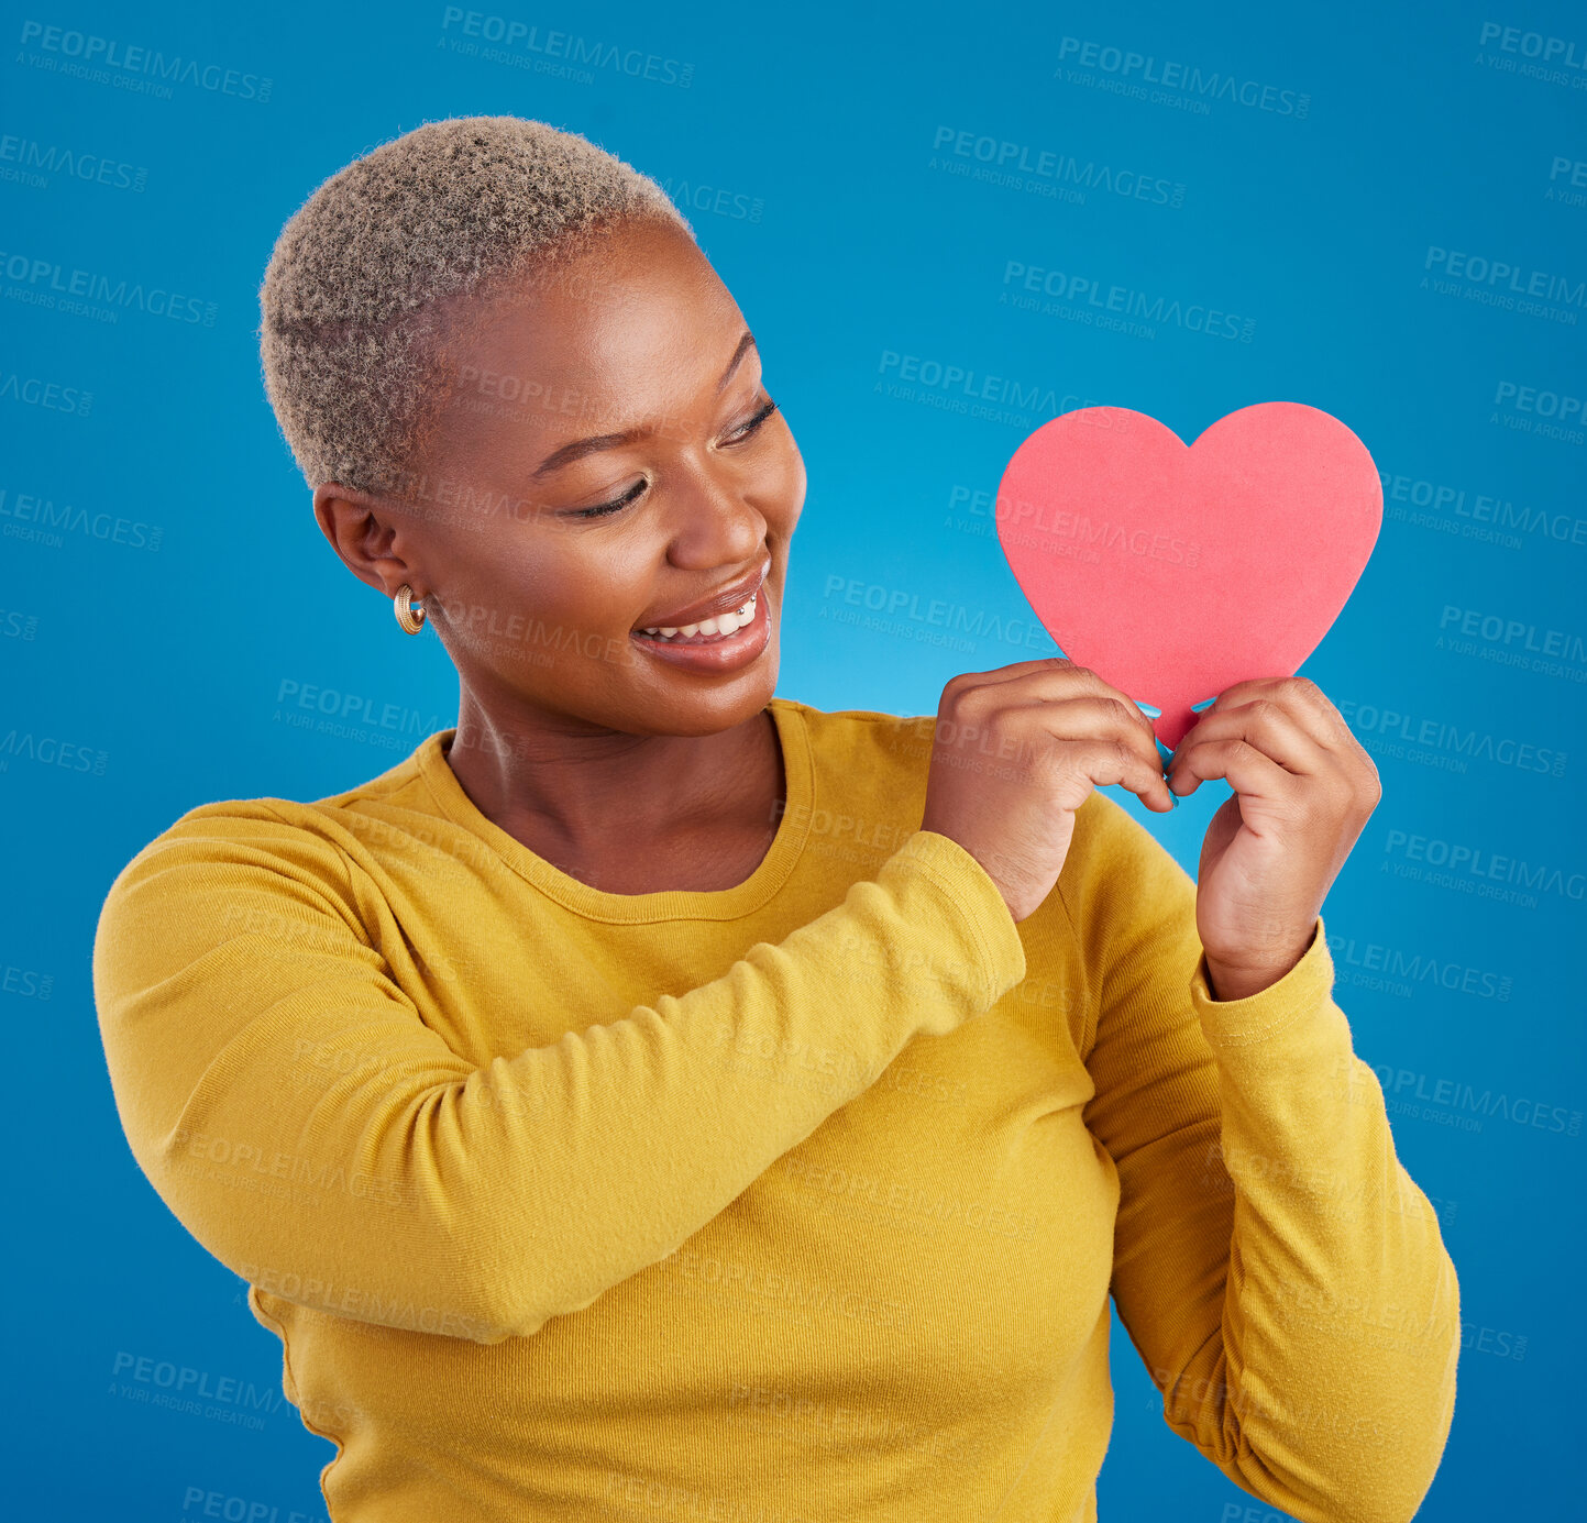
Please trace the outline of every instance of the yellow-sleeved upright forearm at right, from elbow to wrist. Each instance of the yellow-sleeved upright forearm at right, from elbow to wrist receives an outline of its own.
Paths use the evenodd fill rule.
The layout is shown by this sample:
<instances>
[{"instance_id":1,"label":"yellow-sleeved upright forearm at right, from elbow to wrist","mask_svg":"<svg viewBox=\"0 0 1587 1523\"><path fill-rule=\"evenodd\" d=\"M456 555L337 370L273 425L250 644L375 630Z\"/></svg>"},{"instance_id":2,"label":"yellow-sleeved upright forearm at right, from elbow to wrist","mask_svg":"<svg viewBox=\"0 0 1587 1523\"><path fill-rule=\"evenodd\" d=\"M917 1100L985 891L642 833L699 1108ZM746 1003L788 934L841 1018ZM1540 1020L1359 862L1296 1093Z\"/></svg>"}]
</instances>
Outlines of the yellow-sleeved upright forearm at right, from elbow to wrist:
<instances>
[{"instance_id":1,"label":"yellow-sleeved upright forearm at right, from elbow to wrist","mask_svg":"<svg viewBox=\"0 0 1587 1523\"><path fill-rule=\"evenodd\" d=\"M1454 1410L1458 1285L1325 958L1303 961L1265 998L1214 1001L1205 965L1192 984L1222 1112L1200 1187L1230 1196L1232 1237L1220 1336L1165 1412L1297 1518L1411 1518Z\"/></svg>"}]
</instances>

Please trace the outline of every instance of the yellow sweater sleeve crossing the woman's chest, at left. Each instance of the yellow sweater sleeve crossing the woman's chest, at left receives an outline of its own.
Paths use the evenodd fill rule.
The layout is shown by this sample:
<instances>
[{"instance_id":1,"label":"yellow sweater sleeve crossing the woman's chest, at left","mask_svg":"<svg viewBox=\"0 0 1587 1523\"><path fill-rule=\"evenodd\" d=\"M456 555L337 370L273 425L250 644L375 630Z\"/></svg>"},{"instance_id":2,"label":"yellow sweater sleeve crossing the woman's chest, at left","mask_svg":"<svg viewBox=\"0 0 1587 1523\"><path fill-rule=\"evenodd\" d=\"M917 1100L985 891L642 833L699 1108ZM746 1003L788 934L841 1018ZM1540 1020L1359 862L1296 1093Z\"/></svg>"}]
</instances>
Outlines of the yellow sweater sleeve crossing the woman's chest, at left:
<instances>
[{"instance_id":1,"label":"yellow sweater sleeve crossing the woman's chest, at left","mask_svg":"<svg viewBox=\"0 0 1587 1523\"><path fill-rule=\"evenodd\" d=\"M271 814L203 806L122 869L100 1033L133 1157L194 1237L362 1322L417 1307L495 1344L589 1306L1025 974L992 879L916 831L709 984L476 1066L394 982L341 852ZM811 1052L841 1058L820 1084Z\"/></svg>"}]
</instances>

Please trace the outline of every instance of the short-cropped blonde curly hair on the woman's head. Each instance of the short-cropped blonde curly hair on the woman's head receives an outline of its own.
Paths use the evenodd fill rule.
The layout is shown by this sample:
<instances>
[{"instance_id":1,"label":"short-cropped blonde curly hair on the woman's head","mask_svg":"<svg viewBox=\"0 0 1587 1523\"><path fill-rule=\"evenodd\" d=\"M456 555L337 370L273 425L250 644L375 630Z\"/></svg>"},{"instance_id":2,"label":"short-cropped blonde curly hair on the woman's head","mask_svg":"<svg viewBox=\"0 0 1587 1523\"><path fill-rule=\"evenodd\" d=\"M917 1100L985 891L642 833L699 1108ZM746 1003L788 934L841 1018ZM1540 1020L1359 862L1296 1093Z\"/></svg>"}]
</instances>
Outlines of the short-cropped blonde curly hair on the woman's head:
<instances>
[{"instance_id":1,"label":"short-cropped blonde curly hair on the woman's head","mask_svg":"<svg viewBox=\"0 0 1587 1523\"><path fill-rule=\"evenodd\" d=\"M452 298L549 271L625 219L694 238L651 176L517 116L427 122L332 175L259 289L265 392L309 487L397 492L435 424Z\"/></svg>"}]
</instances>

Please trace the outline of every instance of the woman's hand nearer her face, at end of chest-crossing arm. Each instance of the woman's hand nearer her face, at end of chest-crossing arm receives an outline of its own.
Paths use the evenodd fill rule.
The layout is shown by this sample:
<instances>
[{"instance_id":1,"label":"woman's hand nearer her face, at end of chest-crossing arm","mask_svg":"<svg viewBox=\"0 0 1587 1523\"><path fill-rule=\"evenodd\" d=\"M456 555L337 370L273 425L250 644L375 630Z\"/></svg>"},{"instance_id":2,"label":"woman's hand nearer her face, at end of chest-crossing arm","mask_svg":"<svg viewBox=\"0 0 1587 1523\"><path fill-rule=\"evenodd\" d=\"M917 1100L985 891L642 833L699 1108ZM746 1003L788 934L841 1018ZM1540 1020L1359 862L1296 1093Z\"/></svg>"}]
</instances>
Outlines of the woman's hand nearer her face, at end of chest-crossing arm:
<instances>
[{"instance_id":1,"label":"woman's hand nearer her face, at end of chest-crossing arm","mask_svg":"<svg viewBox=\"0 0 1587 1523\"><path fill-rule=\"evenodd\" d=\"M1117 782L1173 809L1152 722L1063 657L966 671L943 689L920 830L986 868L1014 920L1052 892L1092 788Z\"/></svg>"}]
</instances>

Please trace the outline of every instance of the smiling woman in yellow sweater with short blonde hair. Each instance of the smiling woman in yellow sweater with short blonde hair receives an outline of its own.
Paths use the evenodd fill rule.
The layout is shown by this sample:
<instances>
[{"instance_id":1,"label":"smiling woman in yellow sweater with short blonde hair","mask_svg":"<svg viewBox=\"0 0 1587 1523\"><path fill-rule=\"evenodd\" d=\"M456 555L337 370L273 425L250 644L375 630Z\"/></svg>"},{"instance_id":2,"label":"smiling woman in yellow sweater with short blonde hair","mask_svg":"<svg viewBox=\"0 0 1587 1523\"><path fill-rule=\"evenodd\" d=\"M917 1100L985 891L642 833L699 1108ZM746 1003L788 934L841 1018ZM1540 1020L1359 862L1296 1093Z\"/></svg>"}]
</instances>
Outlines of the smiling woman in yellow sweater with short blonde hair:
<instances>
[{"instance_id":1,"label":"smiling woman in yellow sweater with short blonde hair","mask_svg":"<svg viewBox=\"0 0 1587 1523\"><path fill-rule=\"evenodd\" d=\"M774 698L805 471L665 195L433 122L262 289L336 554L455 730L184 814L95 944L140 1166L251 1282L336 1523L1093 1518L1109 1293L1174 1433L1409 1518L1455 1274L1331 1001L1376 774L1305 681L1163 774L1095 673ZM1117 803L1227 779L1200 887Z\"/></svg>"}]
</instances>

